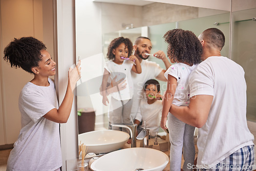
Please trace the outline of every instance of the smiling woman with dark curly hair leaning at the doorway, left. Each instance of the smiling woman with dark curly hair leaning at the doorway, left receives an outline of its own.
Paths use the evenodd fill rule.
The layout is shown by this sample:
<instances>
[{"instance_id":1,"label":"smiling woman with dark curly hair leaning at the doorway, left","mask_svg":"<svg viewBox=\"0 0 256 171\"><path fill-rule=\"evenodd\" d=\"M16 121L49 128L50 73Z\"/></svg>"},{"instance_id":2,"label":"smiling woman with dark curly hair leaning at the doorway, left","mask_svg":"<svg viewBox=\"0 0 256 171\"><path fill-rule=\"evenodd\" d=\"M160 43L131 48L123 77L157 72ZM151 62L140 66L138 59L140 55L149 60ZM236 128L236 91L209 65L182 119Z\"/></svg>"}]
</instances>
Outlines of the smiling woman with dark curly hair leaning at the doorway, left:
<instances>
[{"instance_id":1,"label":"smiling woman with dark curly hair leaning at the doorway, left","mask_svg":"<svg viewBox=\"0 0 256 171\"><path fill-rule=\"evenodd\" d=\"M11 67L34 75L22 92L18 106L22 129L9 155L7 170L60 170L62 166L59 123L66 123L73 103L73 90L80 79L80 64L69 69L66 95L58 105L55 66L46 46L34 37L14 39L4 50Z\"/></svg>"}]
</instances>

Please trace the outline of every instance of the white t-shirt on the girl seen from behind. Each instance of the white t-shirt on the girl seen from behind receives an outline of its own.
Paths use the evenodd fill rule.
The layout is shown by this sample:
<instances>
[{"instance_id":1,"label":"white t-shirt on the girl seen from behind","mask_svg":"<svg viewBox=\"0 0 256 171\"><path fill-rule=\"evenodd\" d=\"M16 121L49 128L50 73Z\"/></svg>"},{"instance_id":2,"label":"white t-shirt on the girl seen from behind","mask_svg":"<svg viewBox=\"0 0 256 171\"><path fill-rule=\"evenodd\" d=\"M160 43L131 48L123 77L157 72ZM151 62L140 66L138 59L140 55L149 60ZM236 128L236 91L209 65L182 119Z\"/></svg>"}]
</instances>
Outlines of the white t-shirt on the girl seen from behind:
<instances>
[{"instance_id":1,"label":"white t-shirt on the girl seen from behind","mask_svg":"<svg viewBox=\"0 0 256 171\"><path fill-rule=\"evenodd\" d=\"M191 71L196 67L196 65L188 66L185 63L177 63L168 68L164 73L166 79L168 75L172 75L177 79L177 88L174 95L173 104L180 106L188 106L189 104L189 86L188 77Z\"/></svg>"}]
</instances>

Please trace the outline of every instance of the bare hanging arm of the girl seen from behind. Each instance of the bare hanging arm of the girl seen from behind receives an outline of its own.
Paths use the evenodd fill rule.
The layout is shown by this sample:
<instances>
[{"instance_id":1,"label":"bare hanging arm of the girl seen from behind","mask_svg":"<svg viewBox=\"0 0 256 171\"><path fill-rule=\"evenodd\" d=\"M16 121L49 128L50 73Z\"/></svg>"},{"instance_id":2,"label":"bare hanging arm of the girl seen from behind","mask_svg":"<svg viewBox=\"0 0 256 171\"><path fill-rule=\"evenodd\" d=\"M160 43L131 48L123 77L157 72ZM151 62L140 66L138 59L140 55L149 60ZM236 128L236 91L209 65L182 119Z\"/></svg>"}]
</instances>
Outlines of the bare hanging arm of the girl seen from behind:
<instances>
[{"instance_id":1,"label":"bare hanging arm of the girl seen from behind","mask_svg":"<svg viewBox=\"0 0 256 171\"><path fill-rule=\"evenodd\" d=\"M170 110L170 106L173 103L176 87L177 87L177 79L175 77L173 77L172 75L168 75L167 89L166 89L164 99L163 99L163 110L162 110L162 117L161 117L162 129L167 129L165 124L166 124L166 120L167 120L167 115Z\"/></svg>"}]
</instances>

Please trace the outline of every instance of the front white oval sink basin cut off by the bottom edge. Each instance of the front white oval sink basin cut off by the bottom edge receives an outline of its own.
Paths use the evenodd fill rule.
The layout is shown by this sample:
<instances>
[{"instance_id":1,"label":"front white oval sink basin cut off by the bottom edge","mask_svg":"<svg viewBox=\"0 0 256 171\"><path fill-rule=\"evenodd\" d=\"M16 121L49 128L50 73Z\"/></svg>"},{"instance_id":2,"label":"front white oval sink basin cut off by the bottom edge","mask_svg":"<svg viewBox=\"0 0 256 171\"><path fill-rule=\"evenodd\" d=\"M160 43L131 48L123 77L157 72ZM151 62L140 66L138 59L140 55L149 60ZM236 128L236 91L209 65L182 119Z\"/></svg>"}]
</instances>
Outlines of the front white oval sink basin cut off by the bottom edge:
<instances>
[{"instance_id":1,"label":"front white oval sink basin cut off by the bottom edge","mask_svg":"<svg viewBox=\"0 0 256 171\"><path fill-rule=\"evenodd\" d=\"M152 148L125 148L95 160L91 168L97 171L162 171L169 162L166 154Z\"/></svg>"}]
</instances>

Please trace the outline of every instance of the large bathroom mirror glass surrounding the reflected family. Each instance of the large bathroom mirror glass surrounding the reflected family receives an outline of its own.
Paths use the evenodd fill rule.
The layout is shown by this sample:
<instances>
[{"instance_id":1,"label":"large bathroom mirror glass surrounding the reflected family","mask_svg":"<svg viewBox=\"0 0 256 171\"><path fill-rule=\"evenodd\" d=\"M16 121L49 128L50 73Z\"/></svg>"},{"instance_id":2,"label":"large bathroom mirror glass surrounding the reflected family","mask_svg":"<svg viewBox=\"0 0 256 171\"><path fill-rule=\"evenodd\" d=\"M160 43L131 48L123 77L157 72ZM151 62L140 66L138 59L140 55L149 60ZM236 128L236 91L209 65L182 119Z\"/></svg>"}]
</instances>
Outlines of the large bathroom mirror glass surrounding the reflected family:
<instances>
[{"instance_id":1,"label":"large bathroom mirror glass surrounding the reflected family","mask_svg":"<svg viewBox=\"0 0 256 171\"><path fill-rule=\"evenodd\" d=\"M100 86L106 51L116 37L128 37L134 42L138 36L152 40L152 53L167 45L163 40L166 31L181 28L197 36L210 27L220 28L229 40L228 11L155 3L137 0L140 5L104 3L103 1L76 0L76 57L82 60L82 79L77 84L78 133L108 129L108 106L102 104ZM146 3L146 4L143 4ZM218 25L215 23L218 23ZM228 56L229 42L223 49ZM157 58L149 58L165 69ZM165 82L161 93L165 91Z\"/></svg>"}]
</instances>

